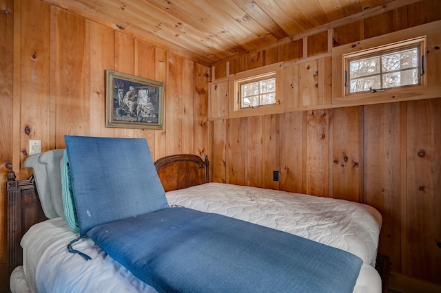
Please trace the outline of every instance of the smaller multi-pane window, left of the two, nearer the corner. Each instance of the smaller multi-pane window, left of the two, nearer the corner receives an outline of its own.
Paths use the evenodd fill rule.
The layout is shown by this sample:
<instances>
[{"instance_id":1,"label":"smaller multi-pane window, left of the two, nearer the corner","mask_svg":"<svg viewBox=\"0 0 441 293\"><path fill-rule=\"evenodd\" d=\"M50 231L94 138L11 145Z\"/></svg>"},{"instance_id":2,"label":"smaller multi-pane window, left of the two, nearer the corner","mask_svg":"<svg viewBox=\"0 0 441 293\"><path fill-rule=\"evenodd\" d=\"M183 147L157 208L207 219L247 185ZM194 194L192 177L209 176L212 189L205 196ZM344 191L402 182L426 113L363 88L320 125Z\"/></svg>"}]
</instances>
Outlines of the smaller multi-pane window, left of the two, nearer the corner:
<instances>
[{"instance_id":1,"label":"smaller multi-pane window, left of the two, nearer the corner","mask_svg":"<svg viewBox=\"0 0 441 293\"><path fill-rule=\"evenodd\" d=\"M238 83L241 109L276 104L276 76L265 76Z\"/></svg>"}]
</instances>

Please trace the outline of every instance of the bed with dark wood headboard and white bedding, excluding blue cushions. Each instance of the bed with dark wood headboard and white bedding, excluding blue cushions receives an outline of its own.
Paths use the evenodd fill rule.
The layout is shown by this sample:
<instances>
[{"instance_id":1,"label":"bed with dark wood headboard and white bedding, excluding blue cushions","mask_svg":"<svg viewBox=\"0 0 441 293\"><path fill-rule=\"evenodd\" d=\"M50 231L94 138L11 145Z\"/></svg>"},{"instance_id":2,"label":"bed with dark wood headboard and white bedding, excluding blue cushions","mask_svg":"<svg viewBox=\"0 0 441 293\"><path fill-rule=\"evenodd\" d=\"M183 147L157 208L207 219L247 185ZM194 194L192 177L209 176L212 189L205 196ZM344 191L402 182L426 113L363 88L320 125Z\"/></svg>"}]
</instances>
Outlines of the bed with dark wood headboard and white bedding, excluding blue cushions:
<instances>
[{"instance_id":1,"label":"bed with dark wood headboard and white bedding, excluding blue cushions","mask_svg":"<svg viewBox=\"0 0 441 293\"><path fill-rule=\"evenodd\" d=\"M110 292L157 292L90 238L79 239L75 250L93 261L84 261L67 251L66 243L79 232L59 216L60 207L48 201L59 200L63 153L52 150L28 159L25 166L34 171L29 180L15 181L12 174L8 176L11 291L96 292L106 288ZM207 158L202 160L196 155L172 155L156 161L167 204L348 251L362 260L353 292L382 291L380 275L374 268L381 226L378 211L340 199L209 182L208 164Z\"/></svg>"}]
</instances>

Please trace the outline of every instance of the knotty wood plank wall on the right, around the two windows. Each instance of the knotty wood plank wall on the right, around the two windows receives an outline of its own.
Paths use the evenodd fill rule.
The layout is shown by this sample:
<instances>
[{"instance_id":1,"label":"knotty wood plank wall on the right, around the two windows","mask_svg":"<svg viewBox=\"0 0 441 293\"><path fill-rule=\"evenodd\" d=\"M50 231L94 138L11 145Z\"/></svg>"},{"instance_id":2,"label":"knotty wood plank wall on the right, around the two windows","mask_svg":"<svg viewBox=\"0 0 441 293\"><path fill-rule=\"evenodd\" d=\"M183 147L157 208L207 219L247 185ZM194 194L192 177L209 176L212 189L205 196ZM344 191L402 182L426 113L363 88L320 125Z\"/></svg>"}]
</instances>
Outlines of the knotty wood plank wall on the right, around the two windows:
<instances>
[{"instance_id":1,"label":"knotty wood plank wall on the right, around the two windows","mask_svg":"<svg viewBox=\"0 0 441 293\"><path fill-rule=\"evenodd\" d=\"M209 107L214 182L374 206L383 217L379 253L389 257L393 273L440 289L441 93L430 100L332 109L329 57L330 46L439 19L441 2L423 0L330 34L214 64ZM439 35L427 47L435 64ZM285 61L284 99L290 100L285 113L227 118L227 76L280 61ZM432 72L430 85L440 85L439 74ZM279 182L272 171L280 171Z\"/></svg>"}]
</instances>

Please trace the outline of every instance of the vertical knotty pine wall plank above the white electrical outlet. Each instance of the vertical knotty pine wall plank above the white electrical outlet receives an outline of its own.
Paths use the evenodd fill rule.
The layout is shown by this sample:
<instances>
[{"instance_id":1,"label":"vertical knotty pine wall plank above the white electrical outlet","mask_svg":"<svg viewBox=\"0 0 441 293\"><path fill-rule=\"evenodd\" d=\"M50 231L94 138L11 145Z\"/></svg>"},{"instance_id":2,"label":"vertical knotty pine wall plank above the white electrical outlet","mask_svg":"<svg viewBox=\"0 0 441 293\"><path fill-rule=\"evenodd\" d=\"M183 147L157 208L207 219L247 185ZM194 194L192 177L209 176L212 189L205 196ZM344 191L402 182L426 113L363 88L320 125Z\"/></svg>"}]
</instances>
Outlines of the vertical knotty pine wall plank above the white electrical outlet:
<instances>
[{"instance_id":1,"label":"vertical knotty pine wall plank above the white electrical outlet","mask_svg":"<svg viewBox=\"0 0 441 293\"><path fill-rule=\"evenodd\" d=\"M21 3L22 32L21 50L21 151L29 152L28 140L40 139L43 150L49 149L50 122L50 88L56 84L50 76L50 6L38 2L22 1ZM42 19L43 21L42 21ZM6 116L8 117L8 116ZM3 124L6 125L6 124ZM27 135L23 129L28 126L31 133ZM43 141L45 143L43 143ZM21 160L27 155L21 153ZM23 166L24 167L24 166ZM18 166L14 169L18 170ZM23 168L23 173L30 175L32 170Z\"/></svg>"}]
</instances>

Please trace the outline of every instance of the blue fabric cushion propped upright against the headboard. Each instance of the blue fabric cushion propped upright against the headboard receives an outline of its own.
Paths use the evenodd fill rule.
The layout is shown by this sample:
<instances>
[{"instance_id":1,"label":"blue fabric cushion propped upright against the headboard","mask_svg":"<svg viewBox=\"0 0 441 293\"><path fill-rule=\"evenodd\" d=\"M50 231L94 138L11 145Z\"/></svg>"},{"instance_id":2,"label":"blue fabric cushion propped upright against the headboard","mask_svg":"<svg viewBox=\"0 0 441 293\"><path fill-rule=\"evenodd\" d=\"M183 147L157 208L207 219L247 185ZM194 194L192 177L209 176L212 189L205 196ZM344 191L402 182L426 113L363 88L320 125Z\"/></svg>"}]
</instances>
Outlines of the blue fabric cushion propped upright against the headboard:
<instances>
[{"instance_id":1,"label":"blue fabric cushion propped upright against the headboard","mask_svg":"<svg viewBox=\"0 0 441 293\"><path fill-rule=\"evenodd\" d=\"M145 139L65 135L80 235L168 208Z\"/></svg>"}]
</instances>

